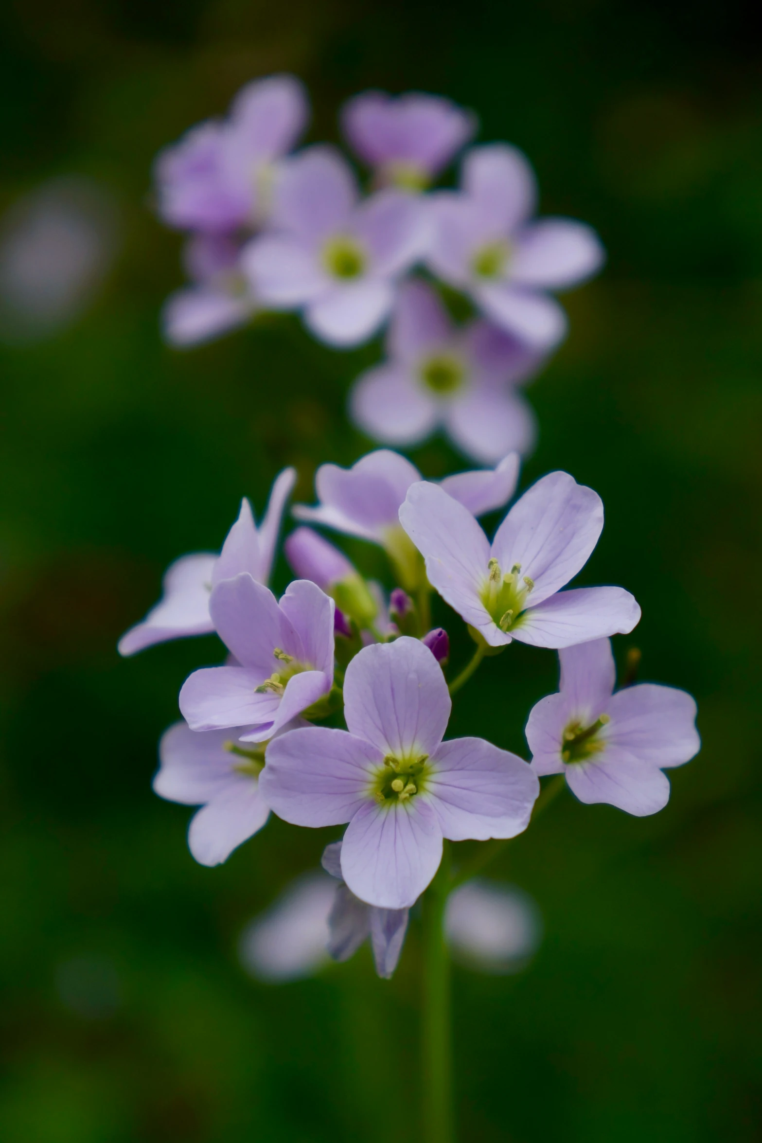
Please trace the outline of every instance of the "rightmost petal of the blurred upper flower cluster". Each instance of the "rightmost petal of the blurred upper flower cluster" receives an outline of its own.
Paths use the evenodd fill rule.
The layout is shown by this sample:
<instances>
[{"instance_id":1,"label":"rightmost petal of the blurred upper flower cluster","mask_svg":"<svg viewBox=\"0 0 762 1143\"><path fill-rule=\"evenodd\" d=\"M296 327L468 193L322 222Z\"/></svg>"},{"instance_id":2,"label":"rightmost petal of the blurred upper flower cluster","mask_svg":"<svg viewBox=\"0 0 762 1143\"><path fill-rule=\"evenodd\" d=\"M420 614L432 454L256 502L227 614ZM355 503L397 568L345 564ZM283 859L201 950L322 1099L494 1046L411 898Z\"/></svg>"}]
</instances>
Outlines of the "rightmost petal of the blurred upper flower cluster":
<instances>
[{"instance_id":1,"label":"rightmost petal of the blurred upper flower cluster","mask_svg":"<svg viewBox=\"0 0 762 1143\"><path fill-rule=\"evenodd\" d=\"M591 278L605 257L591 226L571 218L543 218L514 240L511 278L521 286L563 289Z\"/></svg>"}]
</instances>

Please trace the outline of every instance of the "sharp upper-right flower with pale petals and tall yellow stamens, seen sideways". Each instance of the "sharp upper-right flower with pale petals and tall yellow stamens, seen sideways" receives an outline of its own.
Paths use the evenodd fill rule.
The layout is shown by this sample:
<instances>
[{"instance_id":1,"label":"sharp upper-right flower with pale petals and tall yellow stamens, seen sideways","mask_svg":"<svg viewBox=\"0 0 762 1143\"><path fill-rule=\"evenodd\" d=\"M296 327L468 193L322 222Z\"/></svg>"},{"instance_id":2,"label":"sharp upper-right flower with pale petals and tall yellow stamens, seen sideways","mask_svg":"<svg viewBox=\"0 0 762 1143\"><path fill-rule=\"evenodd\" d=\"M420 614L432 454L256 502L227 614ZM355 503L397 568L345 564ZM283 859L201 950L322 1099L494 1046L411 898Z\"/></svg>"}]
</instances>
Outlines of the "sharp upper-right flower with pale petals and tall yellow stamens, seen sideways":
<instances>
[{"instance_id":1,"label":"sharp upper-right flower with pale petals and tall yellow stamens, seen sideways","mask_svg":"<svg viewBox=\"0 0 762 1143\"><path fill-rule=\"evenodd\" d=\"M425 481L408 491L400 521L430 583L490 647L513 639L570 647L626 633L640 620L623 588L559 590L587 562L603 528L600 496L567 472L532 485L491 545L471 512Z\"/></svg>"}]
</instances>

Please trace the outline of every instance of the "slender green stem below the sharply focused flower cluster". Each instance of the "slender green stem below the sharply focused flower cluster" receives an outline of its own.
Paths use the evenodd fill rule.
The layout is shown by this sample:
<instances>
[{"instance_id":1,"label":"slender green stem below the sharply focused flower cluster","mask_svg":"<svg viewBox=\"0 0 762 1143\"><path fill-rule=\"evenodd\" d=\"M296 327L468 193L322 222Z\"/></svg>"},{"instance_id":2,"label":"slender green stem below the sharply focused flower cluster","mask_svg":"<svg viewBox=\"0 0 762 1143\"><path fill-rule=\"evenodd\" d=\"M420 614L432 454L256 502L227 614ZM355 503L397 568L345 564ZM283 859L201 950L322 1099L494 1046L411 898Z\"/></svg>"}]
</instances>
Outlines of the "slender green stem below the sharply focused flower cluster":
<instances>
[{"instance_id":1,"label":"slender green stem below the sharply focused flower cluster","mask_svg":"<svg viewBox=\"0 0 762 1143\"><path fill-rule=\"evenodd\" d=\"M422 898L423 924L423 1127L424 1143L455 1143L450 959L444 909L450 889L450 854Z\"/></svg>"}]
</instances>

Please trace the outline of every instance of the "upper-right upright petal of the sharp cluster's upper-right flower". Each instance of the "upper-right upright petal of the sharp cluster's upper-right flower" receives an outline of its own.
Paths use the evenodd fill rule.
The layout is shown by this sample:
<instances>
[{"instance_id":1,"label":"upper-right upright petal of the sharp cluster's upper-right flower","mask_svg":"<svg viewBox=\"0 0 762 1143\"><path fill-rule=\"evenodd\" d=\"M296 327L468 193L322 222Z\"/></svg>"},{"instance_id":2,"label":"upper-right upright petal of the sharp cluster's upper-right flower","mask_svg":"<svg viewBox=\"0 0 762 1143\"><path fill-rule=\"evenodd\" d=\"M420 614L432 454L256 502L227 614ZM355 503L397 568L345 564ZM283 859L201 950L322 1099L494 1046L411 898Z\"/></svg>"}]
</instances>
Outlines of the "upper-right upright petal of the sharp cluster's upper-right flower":
<instances>
[{"instance_id":1,"label":"upper-right upright petal of the sharp cluster's upper-right flower","mask_svg":"<svg viewBox=\"0 0 762 1143\"><path fill-rule=\"evenodd\" d=\"M492 541L504 572L514 565L532 581L529 604L547 599L577 575L603 529L597 493L568 472L550 472L516 501Z\"/></svg>"}]
</instances>

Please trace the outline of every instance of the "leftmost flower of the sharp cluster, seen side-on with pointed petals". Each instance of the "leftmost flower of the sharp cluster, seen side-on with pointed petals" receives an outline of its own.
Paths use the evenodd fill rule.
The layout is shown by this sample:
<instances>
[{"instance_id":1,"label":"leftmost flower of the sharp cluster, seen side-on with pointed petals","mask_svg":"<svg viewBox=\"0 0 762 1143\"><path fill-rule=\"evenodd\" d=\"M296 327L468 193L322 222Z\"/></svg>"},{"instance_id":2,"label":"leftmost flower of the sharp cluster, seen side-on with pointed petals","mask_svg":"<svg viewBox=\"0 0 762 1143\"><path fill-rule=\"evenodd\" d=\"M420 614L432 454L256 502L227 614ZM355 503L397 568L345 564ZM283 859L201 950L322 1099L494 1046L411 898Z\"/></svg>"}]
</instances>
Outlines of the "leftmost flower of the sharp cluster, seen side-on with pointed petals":
<instances>
[{"instance_id":1,"label":"leftmost flower of the sharp cluster, seen side-on with pointed petals","mask_svg":"<svg viewBox=\"0 0 762 1143\"><path fill-rule=\"evenodd\" d=\"M267 583L283 509L295 480L294 469L283 469L275 479L259 528L255 523L251 505L244 497L239 518L227 533L219 555L199 552L181 555L175 560L165 574L160 602L142 623L122 636L119 641L120 655L134 655L144 647L152 647L168 639L202 636L214 631L209 617L209 593L222 580L230 580L239 572L249 572L259 583Z\"/></svg>"}]
</instances>

